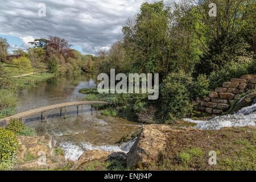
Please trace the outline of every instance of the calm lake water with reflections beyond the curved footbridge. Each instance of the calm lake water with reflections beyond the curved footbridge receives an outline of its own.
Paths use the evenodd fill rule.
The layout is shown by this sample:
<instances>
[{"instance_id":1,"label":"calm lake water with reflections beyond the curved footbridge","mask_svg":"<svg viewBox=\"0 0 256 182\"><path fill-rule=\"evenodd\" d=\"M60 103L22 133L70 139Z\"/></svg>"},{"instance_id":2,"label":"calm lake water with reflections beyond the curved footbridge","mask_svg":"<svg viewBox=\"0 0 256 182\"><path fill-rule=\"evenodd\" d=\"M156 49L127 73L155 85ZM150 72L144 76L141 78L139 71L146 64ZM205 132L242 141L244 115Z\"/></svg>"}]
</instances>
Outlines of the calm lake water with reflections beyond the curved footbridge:
<instances>
[{"instance_id":1,"label":"calm lake water with reflections beyond the curved footbridge","mask_svg":"<svg viewBox=\"0 0 256 182\"><path fill-rule=\"evenodd\" d=\"M70 74L38 82L35 88L24 89L18 92L18 111L76 101L80 87L96 87L94 78L95 76L90 74Z\"/></svg>"}]
</instances>

